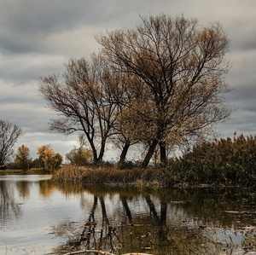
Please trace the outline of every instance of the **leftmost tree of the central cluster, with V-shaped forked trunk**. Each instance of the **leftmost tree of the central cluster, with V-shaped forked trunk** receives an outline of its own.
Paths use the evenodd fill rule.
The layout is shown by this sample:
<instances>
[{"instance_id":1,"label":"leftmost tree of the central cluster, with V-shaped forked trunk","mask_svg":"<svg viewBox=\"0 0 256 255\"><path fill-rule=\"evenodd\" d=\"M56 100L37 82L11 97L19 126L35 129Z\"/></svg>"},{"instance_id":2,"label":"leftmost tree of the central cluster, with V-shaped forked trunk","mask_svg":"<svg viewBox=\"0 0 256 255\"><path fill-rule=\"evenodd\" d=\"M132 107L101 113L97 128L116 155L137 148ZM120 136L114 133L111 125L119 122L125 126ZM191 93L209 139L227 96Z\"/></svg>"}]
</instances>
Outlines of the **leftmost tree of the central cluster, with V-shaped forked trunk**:
<instances>
[{"instance_id":1,"label":"leftmost tree of the central cluster, with V-shaped forked trunk","mask_svg":"<svg viewBox=\"0 0 256 255\"><path fill-rule=\"evenodd\" d=\"M84 133L95 163L102 161L106 142L112 135L119 106L113 96L118 92L119 76L108 68L101 56L92 61L70 60L63 75L42 79L39 91L49 108L61 116L50 129L70 135Z\"/></svg>"}]
</instances>

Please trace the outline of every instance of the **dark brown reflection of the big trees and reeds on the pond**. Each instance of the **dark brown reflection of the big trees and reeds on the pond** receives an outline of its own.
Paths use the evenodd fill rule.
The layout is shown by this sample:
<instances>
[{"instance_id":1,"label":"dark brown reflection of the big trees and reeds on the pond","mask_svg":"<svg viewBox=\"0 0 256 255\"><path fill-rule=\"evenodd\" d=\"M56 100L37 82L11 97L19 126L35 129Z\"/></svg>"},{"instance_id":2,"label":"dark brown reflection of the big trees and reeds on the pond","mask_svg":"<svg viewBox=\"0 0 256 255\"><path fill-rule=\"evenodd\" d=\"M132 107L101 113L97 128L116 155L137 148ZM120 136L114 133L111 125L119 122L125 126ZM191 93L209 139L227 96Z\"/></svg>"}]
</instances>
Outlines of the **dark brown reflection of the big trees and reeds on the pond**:
<instances>
[{"instance_id":1,"label":"dark brown reflection of the big trees and reeds on the pond","mask_svg":"<svg viewBox=\"0 0 256 255\"><path fill-rule=\"evenodd\" d=\"M69 246L116 254L233 254L241 250L246 233L241 227L255 223L254 194L247 190L95 186L84 190L93 194L93 203L84 225L73 225L76 234L69 235ZM248 206L250 211L243 211Z\"/></svg>"}]
</instances>

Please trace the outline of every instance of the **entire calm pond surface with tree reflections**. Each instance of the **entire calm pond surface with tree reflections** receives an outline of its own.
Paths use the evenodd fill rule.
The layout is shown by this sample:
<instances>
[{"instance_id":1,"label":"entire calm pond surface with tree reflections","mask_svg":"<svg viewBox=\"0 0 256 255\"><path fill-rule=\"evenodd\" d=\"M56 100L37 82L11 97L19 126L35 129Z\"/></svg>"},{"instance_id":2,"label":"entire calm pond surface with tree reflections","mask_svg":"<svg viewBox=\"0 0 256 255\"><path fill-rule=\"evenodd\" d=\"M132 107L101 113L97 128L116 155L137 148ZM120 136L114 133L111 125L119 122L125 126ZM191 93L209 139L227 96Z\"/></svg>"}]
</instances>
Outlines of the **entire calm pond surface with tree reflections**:
<instances>
[{"instance_id":1,"label":"entire calm pond surface with tree reflections","mask_svg":"<svg viewBox=\"0 0 256 255\"><path fill-rule=\"evenodd\" d=\"M255 254L255 199L241 188L82 187L0 176L0 254Z\"/></svg>"}]
</instances>

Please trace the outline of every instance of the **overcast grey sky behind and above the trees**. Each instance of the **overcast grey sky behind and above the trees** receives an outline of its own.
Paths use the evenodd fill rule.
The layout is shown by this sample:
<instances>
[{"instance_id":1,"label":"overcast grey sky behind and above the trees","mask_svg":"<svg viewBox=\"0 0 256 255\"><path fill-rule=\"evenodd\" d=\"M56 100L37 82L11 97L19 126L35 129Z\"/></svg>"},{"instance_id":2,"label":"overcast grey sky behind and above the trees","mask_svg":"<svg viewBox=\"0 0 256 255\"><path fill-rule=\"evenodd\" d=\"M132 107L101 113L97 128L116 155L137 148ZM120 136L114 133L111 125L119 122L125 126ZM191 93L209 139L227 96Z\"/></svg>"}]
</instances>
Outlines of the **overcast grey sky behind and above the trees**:
<instances>
[{"instance_id":1,"label":"overcast grey sky behind and above the trees","mask_svg":"<svg viewBox=\"0 0 256 255\"><path fill-rule=\"evenodd\" d=\"M40 78L63 72L71 57L90 58L100 48L96 35L160 13L222 24L233 63L227 81L234 90L226 98L239 108L217 131L256 135L256 0L0 0L0 119L23 129L15 148L25 144L35 159L44 144L63 156L78 145L77 136L49 132L54 113L38 95Z\"/></svg>"}]
</instances>

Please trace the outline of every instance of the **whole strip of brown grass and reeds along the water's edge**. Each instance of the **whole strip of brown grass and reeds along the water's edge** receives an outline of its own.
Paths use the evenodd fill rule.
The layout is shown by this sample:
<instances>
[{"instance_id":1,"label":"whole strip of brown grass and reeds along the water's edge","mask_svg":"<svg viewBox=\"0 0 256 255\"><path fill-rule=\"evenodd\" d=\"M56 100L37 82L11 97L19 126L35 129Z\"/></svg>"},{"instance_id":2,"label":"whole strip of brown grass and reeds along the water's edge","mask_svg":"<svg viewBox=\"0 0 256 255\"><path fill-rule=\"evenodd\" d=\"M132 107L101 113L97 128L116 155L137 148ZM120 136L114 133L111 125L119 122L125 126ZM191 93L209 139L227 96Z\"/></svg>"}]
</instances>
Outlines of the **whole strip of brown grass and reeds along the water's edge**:
<instances>
[{"instance_id":1,"label":"whole strip of brown grass and reeds along the water's edge","mask_svg":"<svg viewBox=\"0 0 256 255\"><path fill-rule=\"evenodd\" d=\"M201 142L162 167L99 168L65 165L53 178L75 183L158 183L162 186L245 186L256 183L256 136Z\"/></svg>"}]
</instances>

